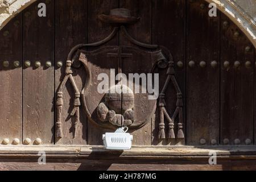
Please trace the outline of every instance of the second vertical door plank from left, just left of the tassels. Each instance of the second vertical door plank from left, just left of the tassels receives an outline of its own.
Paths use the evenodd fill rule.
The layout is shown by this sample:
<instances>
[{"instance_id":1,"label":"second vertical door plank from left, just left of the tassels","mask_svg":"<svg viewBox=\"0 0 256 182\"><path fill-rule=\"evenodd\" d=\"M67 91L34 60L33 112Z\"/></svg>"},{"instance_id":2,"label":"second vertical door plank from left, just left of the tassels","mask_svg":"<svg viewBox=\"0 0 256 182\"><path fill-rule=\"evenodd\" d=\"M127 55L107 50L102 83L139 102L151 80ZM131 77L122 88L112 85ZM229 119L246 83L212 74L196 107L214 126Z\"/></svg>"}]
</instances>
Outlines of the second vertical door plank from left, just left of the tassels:
<instances>
[{"instance_id":1,"label":"second vertical door plank from left, just left of the tassels","mask_svg":"<svg viewBox=\"0 0 256 182\"><path fill-rule=\"evenodd\" d=\"M47 3L47 16L38 16L38 1L23 13L23 139L36 138L53 144L54 1ZM31 67L24 65L31 62ZM36 61L41 66L35 67Z\"/></svg>"}]
</instances>

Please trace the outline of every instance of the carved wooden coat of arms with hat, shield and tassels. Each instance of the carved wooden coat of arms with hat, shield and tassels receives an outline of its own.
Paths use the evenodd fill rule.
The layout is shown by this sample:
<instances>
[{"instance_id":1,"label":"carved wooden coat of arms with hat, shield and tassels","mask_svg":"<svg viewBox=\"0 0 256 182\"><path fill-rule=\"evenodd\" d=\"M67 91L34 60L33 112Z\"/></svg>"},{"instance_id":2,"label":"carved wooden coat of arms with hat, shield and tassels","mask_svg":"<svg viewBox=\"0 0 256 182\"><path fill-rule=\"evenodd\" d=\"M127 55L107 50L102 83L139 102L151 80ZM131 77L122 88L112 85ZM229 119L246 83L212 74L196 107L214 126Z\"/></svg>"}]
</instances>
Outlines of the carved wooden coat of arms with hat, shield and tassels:
<instances>
[{"instance_id":1,"label":"carved wooden coat of arms with hat, shield and tassels","mask_svg":"<svg viewBox=\"0 0 256 182\"><path fill-rule=\"evenodd\" d=\"M167 138L184 138L182 94L175 78L174 61L171 53L165 47L138 42L127 33L124 24L138 20L138 18L130 16L129 10L115 9L110 13L110 15L100 15L101 20L115 25L108 37L96 43L79 44L69 52L65 76L57 91L56 137L63 137L61 129L61 113L65 101L63 90L69 81L74 90L73 97L75 98L73 104L71 104L73 109L70 113L71 116L75 117L75 134L80 114L86 114L89 121L99 127L115 130L121 126L128 126L130 130L135 130L151 121L158 106L160 111L160 118L158 119L159 138L166 138L164 118L166 118L169 128ZM112 40L118 32L135 46L102 46ZM98 48L99 46L101 48ZM90 48L90 51L88 48ZM79 90L72 76L72 70L81 66L84 67L86 72L86 81L84 88ZM98 80L100 73L105 73L110 78L113 76L111 70L114 70L114 74L123 73L128 77L129 73L138 73L139 75L141 73L155 73L156 67L167 71L166 82L160 90L159 100L149 100L149 93L134 93L133 88L120 84L120 82L110 86L109 92L97 92L98 85L101 82ZM170 83L174 85L177 92L175 111L166 110L166 102L164 101ZM139 86L142 87L142 85ZM80 109L83 109L84 112L80 113ZM171 113L173 113L172 117L170 117ZM176 118L179 118L179 122L176 125L178 130L175 136Z\"/></svg>"}]
</instances>

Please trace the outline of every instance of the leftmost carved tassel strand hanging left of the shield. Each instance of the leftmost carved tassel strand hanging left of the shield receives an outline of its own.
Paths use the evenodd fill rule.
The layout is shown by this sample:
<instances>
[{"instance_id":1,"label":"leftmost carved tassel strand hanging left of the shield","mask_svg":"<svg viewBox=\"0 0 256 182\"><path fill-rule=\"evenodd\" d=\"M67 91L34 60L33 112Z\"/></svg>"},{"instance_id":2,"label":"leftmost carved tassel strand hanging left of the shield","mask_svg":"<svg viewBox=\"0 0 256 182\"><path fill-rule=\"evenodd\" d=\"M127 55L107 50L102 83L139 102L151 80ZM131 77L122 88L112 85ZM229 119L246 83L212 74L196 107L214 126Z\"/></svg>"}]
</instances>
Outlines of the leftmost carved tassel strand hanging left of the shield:
<instances>
[{"instance_id":1,"label":"leftmost carved tassel strand hanging left of the shield","mask_svg":"<svg viewBox=\"0 0 256 182\"><path fill-rule=\"evenodd\" d=\"M62 106L63 106L63 93L62 92L57 93L56 105L57 105L56 137L62 138L63 137L63 133L61 130L61 113L62 113Z\"/></svg>"}]
</instances>

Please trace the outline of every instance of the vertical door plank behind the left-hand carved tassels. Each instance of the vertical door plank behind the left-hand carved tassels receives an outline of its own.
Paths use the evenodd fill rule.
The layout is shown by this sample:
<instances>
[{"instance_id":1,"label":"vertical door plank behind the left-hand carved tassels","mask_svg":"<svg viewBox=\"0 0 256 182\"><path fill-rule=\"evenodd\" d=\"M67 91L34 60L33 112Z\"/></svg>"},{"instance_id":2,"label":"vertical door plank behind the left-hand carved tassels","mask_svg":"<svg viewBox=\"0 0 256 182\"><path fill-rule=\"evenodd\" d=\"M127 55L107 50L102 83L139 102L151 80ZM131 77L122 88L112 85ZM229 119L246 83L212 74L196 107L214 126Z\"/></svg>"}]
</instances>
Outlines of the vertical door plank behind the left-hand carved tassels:
<instances>
[{"instance_id":1,"label":"vertical door plank behind the left-hand carved tassels","mask_svg":"<svg viewBox=\"0 0 256 182\"><path fill-rule=\"evenodd\" d=\"M58 89L60 81L65 75L65 61L73 46L87 42L87 1L68 0L55 2L55 64L63 62L63 67L55 70L55 90ZM85 82L84 68L72 69L77 88L81 92ZM74 130L74 119L71 118L73 109L74 90L71 82L66 84L63 91L64 105L62 112L63 138L56 138L56 144L79 144L85 145L87 139L86 114L80 109L80 122L77 126L76 137ZM81 107L80 107L81 108Z\"/></svg>"}]
</instances>

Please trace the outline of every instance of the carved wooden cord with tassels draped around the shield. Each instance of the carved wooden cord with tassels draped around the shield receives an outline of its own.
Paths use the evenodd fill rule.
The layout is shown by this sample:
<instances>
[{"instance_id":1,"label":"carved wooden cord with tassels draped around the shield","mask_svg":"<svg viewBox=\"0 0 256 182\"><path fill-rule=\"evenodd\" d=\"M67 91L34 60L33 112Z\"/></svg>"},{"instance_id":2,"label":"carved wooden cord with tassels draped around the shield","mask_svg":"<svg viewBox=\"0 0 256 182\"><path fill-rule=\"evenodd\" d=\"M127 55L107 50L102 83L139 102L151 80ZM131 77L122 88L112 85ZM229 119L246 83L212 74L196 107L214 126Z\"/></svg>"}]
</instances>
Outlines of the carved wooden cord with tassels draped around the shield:
<instances>
[{"instance_id":1,"label":"carved wooden cord with tassels draped around the shield","mask_svg":"<svg viewBox=\"0 0 256 182\"><path fill-rule=\"evenodd\" d=\"M79 58L78 60L84 65L85 69L87 69L87 60L85 55L80 54L79 49L82 47L96 47L96 46L101 46L102 44L105 44L106 42L109 42L109 40L111 40L115 34L117 34L119 28L118 27L114 27L113 31L111 32L111 34L106 37L105 39L96 42L96 43L91 43L91 44L78 44L77 46L73 47L71 49L71 51L68 54L68 59L66 62L66 70L65 70L65 77L63 79L63 81L60 84L60 88L57 92L57 100L56 100L56 106L57 106L57 117L56 117L56 137L57 138L62 138L63 137L63 132L61 129L61 113L62 113L62 109L63 109L63 90L64 90L64 86L68 81L71 81L73 90L75 91L75 100L73 102L73 110L71 112L71 116L75 117L75 126L74 126L74 134L73 137L76 137L76 130L77 130L77 125L79 123L80 120L80 106L81 106L81 102L80 102L80 96L84 93L84 90L86 90L86 87L88 86L88 81L86 81L85 84L85 88L82 89L81 93L79 92L75 80L73 79L72 76L72 69L71 66L73 64L73 62ZM166 138L165 133L164 133L164 117L167 118L168 121L168 126L169 126L169 130L168 130L168 138L174 139L175 138L175 134L174 134L174 121L175 119L178 117L179 118L179 123L178 125L178 131L177 131L177 138L183 139L184 138L184 133L183 133L183 101L182 101L182 93L181 90L179 88L179 85L177 84L176 78L175 78L175 72L174 72L174 61L172 60L172 55L170 53L170 51L162 46L158 46L158 45L150 45L150 44L144 44L141 42L138 42L137 40L133 39L126 31L125 27L121 26L121 31L123 32L123 35L126 36L126 38L133 44L139 46L139 47L144 47L144 48L148 48L148 49L156 49L156 48L162 48L164 49L166 52L169 53L169 62L168 62L168 69L167 69L167 80L164 84L164 87L162 89L162 92L160 93L159 96L159 110L160 110L160 122L159 122L159 139L164 139ZM76 52L76 55L74 56ZM74 57L73 57L74 56ZM72 59L73 57L73 59ZM158 63L156 63L158 65L159 68L166 68L166 64L165 61L163 61L162 59L160 59L158 61ZM154 72L154 69L156 67L156 64L153 65L152 71ZM75 67L73 65L73 67ZM174 84L176 92L177 92L177 102L176 102L176 110L174 112L174 115L172 116L172 118L170 117L170 115L168 114L167 110L166 110L166 102L164 100L165 98L165 92L167 90L168 85L170 84L170 82L172 81L172 84ZM85 102L85 101L84 101ZM86 106L86 104L85 104Z\"/></svg>"}]
</instances>

